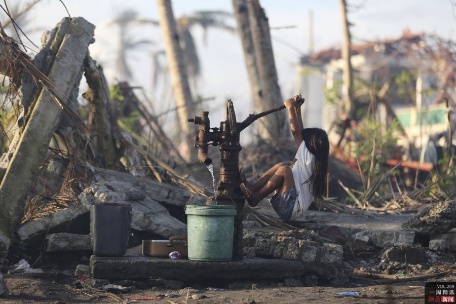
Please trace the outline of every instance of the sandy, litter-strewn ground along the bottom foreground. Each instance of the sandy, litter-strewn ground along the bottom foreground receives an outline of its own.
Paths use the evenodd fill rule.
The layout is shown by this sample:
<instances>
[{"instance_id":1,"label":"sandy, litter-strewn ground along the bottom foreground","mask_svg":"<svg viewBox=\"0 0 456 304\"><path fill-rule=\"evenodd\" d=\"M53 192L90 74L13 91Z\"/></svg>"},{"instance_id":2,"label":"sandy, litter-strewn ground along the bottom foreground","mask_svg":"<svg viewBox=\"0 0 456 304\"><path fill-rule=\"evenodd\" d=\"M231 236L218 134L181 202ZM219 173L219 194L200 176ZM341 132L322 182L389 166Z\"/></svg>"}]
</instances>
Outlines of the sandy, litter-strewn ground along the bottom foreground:
<instances>
[{"instance_id":1,"label":"sandy, litter-strewn ground along the bottom foreground","mask_svg":"<svg viewBox=\"0 0 456 304\"><path fill-rule=\"evenodd\" d=\"M53 278L33 278L21 274L4 275L10 295L5 303L424 303L426 282L455 282L456 273L438 279L371 285L368 279L351 281L344 287L277 287L246 283L233 289L210 290L210 286L192 286L180 290L157 287L133 289L123 293L99 292L76 288L77 277L59 274ZM188 292L188 298L187 298ZM339 292L358 292L359 296L341 296ZM160 298L160 294L172 297ZM135 298L139 298L135 300ZM143 298L143 299L141 299ZM148 298L148 299L147 299Z\"/></svg>"}]
</instances>

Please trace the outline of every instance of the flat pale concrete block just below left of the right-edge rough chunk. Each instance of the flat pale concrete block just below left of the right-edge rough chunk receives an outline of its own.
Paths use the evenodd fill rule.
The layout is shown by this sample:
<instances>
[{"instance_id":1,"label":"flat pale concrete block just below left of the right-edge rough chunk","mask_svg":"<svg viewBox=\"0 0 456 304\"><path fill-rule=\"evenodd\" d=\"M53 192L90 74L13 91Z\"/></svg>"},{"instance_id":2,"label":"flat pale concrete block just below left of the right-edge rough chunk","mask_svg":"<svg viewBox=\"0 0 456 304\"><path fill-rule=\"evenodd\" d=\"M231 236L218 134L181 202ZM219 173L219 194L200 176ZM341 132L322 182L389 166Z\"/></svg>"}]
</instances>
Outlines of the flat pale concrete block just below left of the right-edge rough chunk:
<instances>
[{"instance_id":1,"label":"flat pale concrete block just below left of the right-edge rough chunk","mask_svg":"<svg viewBox=\"0 0 456 304\"><path fill-rule=\"evenodd\" d=\"M358 237L365 235L369 238L369 243L374 246L386 248L393 246L411 246L415 238L415 233L412 231L367 231L357 234Z\"/></svg>"}]
</instances>

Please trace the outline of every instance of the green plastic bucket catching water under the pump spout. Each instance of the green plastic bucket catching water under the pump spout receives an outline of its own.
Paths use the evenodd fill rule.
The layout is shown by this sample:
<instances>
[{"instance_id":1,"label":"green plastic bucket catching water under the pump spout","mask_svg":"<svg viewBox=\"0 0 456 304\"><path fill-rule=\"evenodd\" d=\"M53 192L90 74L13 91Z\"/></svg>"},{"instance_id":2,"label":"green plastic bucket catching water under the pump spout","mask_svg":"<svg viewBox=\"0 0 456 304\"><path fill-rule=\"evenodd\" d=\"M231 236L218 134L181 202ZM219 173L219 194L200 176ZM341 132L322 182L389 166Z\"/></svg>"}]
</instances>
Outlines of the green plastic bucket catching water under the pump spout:
<instances>
[{"instance_id":1,"label":"green plastic bucket catching water under the pump spout","mask_svg":"<svg viewBox=\"0 0 456 304\"><path fill-rule=\"evenodd\" d=\"M236 206L189 205L187 215L188 259L230 261L233 258L233 232Z\"/></svg>"}]
</instances>

